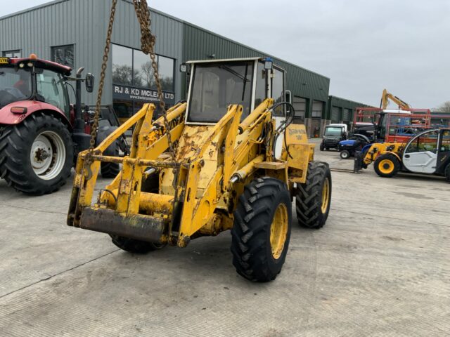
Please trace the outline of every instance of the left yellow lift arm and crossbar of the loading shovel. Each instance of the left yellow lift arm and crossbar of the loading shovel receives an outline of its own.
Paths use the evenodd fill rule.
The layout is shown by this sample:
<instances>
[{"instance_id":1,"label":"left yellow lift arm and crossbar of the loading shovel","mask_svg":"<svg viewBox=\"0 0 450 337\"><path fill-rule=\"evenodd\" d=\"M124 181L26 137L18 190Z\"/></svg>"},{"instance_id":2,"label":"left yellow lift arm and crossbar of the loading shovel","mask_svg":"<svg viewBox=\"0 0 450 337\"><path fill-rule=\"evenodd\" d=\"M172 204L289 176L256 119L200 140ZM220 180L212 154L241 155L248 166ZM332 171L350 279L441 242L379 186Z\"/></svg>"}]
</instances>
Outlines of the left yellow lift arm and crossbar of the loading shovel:
<instances>
[{"instance_id":1,"label":"left yellow lift arm and crossbar of the loading shovel","mask_svg":"<svg viewBox=\"0 0 450 337\"><path fill-rule=\"evenodd\" d=\"M139 194L140 190L138 190L138 186L136 186L135 183L139 180L138 176L142 176L143 170L146 169L147 166L176 166L174 163L155 160L162 152L167 150L168 145L167 137L164 137L166 131L160 126L162 121L158 119L153 124L151 122L154 110L155 105L153 104L143 105L139 112L134 114L134 116L117 128L110 136L105 138L105 140L103 140L103 142L92 152L90 150L80 152L75 168L75 178L68 212L68 225L79 227L83 209L91 206L101 161L115 162L124 165L122 172L106 187L106 192L103 192L98 198L98 201L105 204L109 199L105 194L113 194L112 190L117 190L118 194L114 195L113 199L117 199L117 206L120 210L127 208L124 206L125 203L131 203L130 208L136 209L136 199L139 199L139 196L136 197L136 194ZM180 130L184 126L182 117L185 111L186 103L175 105L168 110L167 118L172 126L174 126L174 128L169 130L172 140L176 140L181 134ZM134 141L131 147L130 156L123 158L103 156L103 151L105 151L117 138L120 138L125 131L134 124L136 124L136 128L133 134ZM151 152L153 156L148 155L148 152ZM129 168L131 166L139 167L139 170L137 170L139 172L136 172L136 175L133 175L131 178L132 181L129 176ZM132 193L131 189L133 189ZM110 197L112 196L110 195ZM139 206L137 207L139 208Z\"/></svg>"}]
</instances>

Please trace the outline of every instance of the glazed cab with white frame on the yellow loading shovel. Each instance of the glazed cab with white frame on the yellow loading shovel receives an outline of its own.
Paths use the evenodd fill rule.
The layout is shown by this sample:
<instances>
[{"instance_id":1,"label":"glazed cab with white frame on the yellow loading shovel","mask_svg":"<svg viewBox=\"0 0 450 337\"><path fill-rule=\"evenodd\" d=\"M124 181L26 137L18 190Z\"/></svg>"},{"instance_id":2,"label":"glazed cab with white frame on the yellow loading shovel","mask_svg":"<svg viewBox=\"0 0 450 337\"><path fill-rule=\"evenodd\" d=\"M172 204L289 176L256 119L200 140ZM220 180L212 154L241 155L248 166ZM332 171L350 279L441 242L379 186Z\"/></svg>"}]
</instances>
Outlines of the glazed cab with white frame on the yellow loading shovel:
<instances>
[{"instance_id":1,"label":"glazed cab with white frame on the yellow loading shovel","mask_svg":"<svg viewBox=\"0 0 450 337\"><path fill-rule=\"evenodd\" d=\"M274 103L285 100L285 71L269 58L189 61L191 81L186 124L212 125L230 104L243 106L241 121L266 98ZM284 117L284 105L274 117Z\"/></svg>"}]
</instances>

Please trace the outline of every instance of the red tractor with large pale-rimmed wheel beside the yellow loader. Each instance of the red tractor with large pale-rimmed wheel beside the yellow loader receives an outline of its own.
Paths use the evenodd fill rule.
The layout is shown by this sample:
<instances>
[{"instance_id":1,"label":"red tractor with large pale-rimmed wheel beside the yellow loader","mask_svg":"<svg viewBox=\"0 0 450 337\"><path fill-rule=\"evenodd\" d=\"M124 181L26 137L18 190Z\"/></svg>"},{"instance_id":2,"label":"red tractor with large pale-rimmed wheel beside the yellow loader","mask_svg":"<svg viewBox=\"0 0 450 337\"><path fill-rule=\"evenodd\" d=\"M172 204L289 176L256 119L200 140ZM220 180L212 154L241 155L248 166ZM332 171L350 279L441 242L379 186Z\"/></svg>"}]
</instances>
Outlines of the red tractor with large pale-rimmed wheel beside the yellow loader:
<instances>
[{"instance_id":1,"label":"red tractor with large pale-rimmed wheel beside the yellow loader","mask_svg":"<svg viewBox=\"0 0 450 337\"><path fill-rule=\"evenodd\" d=\"M77 154L89 148L93 112L82 108L81 85L92 92L94 76L75 78L72 69L55 62L29 58L0 58L0 178L15 190L46 194L58 190L70 176ZM75 81L75 105L69 101L68 81ZM73 88L73 86L72 86ZM118 126L112 108L102 107L96 143ZM122 140L107 152L115 154ZM117 174L106 164L102 174Z\"/></svg>"}]
</instances>

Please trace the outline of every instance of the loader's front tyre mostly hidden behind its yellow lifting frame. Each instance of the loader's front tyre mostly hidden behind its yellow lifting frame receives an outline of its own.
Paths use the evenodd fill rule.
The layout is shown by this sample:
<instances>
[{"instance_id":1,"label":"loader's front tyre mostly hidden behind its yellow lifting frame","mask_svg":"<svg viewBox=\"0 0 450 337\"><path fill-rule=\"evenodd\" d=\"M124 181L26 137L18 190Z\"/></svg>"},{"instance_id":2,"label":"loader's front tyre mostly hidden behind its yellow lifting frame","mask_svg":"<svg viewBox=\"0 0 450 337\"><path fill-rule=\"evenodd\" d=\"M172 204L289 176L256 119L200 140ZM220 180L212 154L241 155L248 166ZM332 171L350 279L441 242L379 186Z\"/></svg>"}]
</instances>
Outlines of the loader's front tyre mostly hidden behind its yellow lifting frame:
<instances>
[{"instance_id":1,"label":"loader's front tyre mostly hidden behind its yellow lifting frame","mask_svg":"<svg viewBox=\"0 0 450 337\"><path fill-rule=\"evenodd\" d=\"M144 188L145 185L145 188ZM148 176L148 178L142 182L142 192L158 193L159 187L159 175L158 173L153 173ZM110 237L117 247L129 253L139 253L145 254L149 251L157 251L158 249L163 249L166 244L158 244L155 242L146 242L136 239L130 239L129 237L120 237L119 235L110 234Z\"/></svg>"}]
</instances>

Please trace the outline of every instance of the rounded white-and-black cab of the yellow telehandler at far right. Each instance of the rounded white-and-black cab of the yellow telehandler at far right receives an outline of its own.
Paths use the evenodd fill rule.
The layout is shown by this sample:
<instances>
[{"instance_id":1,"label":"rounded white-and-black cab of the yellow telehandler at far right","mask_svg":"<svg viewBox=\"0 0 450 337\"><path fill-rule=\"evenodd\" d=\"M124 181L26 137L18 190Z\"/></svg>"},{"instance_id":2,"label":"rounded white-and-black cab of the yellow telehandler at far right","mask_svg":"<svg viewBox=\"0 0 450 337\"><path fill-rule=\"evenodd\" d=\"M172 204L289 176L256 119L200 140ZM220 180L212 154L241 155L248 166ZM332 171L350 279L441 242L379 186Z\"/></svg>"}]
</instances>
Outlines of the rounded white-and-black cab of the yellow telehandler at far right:
<instances>
[{"instance_id":1,"label":"rounded white-and-black cab of the yellow telehandler at far right","mask_svg":"<svg viewBox=\"0 0 450 337\"><path fill-rule=\"evenodd\" d=\"M411 138L402 155L405 169L414 173L444 173L450 164L450 130L432 129Z\"/></svg>"}]
</instances>

